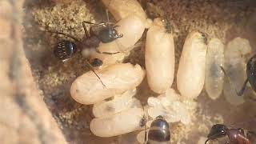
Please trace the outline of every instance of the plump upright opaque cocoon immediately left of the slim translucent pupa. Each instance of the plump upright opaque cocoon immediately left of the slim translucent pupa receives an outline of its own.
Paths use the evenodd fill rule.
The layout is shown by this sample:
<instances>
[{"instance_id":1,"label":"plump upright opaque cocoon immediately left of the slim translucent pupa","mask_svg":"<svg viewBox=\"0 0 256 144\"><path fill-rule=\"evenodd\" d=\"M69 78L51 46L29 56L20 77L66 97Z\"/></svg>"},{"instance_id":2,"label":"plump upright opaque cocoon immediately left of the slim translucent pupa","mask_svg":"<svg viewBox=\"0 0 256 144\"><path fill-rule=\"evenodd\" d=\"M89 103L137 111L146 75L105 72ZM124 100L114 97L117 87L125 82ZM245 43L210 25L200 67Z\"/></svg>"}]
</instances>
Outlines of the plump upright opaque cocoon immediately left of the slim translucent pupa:
<instances>
[{"instance_id":1,"label":"plump upright opaque cocoon immediately left of the slim translucent pupa","mask_svg":"<svg viewBox=\"0 0 256 144\"><path fill-rule=\"evenodd\" d=\"M183 97L197 98L205 82L206 37L193 31L186 37L178 65L177 86Z\"/></svg>"}]
</instances>

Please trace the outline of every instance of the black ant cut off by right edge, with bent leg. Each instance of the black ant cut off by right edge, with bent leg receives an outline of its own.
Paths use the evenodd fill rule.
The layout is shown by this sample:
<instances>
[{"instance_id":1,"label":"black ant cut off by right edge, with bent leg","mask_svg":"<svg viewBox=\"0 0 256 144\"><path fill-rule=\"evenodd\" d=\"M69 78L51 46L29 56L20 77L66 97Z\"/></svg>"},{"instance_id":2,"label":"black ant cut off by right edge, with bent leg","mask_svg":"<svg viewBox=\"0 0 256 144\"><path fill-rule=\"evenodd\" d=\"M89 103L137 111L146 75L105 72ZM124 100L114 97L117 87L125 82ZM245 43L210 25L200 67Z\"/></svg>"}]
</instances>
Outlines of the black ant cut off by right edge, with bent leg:
<instances>
[{"instance_id":1,"label":"black ant cut off by right edge, with bent leg","mask_svg":"<svg viewBox=\"0 0 256 144\"><path fill-rule=\"evenodd\" d=\"M224 74L229 78L229 76L226 74L226 70L224 70L222 66L220 67L224 72ZM250 86L253 88L253 90L256 91L256 54L254 54L254 56L250 58L246 64L246 75L247 75L246 82L244 82L242 89L239 91L235 89L238 96L242 96L242 94L246 90L246 84L248 82L250 83ZM230 78L229 78L229 82L230 82Z\"/></svg>"}]
</instances>

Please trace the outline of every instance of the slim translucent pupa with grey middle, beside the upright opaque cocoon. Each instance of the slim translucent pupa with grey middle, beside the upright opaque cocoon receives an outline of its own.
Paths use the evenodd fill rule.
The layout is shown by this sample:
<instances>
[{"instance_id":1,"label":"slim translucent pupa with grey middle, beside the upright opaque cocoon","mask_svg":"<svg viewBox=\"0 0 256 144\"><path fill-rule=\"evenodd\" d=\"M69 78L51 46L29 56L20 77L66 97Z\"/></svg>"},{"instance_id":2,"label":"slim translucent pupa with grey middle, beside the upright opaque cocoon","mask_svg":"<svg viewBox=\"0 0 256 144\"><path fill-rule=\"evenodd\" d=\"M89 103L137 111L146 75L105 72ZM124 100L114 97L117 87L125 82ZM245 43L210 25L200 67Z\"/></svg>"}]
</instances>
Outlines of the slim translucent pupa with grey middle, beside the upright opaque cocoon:
<instances>
[{"instance_id":1,"label":"slim translucent pupa with grey middle, beside the upright opaque cocoon","mask_svg":"<svg viewBox=\"0 0 256 144\"><path fill-rule=\"evenodd\" d=\"M206 54L206 92L216 99L222 94L224 73L224 45L218 38L210 39Z\"/></svg>"}]
</instances>

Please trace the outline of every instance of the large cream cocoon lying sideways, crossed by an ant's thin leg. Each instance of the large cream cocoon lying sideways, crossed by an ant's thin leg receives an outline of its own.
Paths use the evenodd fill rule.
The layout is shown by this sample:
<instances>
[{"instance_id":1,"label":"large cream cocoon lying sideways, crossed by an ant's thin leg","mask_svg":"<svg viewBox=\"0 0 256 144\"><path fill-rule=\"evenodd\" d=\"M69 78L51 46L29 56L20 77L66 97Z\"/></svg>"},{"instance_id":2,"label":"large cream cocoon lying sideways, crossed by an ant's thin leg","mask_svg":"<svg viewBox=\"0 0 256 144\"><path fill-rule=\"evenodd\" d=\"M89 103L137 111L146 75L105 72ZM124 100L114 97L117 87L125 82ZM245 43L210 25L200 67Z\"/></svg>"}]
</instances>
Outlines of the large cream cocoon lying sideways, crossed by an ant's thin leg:
<instances>
[{"instance_id":1,"label":"large cream cocoon lying sideways, crossed by an ant's thin leg","mask_svg":"<svg viewBox=\"0 0 256 144\"><path fill-rule=\"evenodd\" d=\"M145 76L141 66L130 63L108 66L102 70L96 70L96 73L106 87L92 71L82 74L70 88L71 96L75 101L86 105L101 102L116 94L122 94L126 90L133 90Z\"/></svg>"}]
</instances>

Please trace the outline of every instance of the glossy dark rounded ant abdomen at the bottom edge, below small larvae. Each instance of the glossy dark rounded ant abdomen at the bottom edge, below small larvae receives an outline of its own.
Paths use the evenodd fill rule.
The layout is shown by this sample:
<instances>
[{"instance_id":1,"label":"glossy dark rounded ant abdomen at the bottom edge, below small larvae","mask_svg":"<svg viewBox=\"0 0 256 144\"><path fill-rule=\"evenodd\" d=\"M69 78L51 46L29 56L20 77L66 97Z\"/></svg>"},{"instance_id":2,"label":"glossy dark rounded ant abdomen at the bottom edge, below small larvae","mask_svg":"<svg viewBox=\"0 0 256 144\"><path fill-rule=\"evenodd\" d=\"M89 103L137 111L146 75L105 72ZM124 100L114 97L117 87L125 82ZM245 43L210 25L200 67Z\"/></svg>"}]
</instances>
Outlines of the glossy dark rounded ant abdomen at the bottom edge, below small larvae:
<instances>
[{"instance_id":1,"label":"glossy dark rounded ant abdomen at the bottom edge, below small larvae","mask_svg":"<svg viewBox=\"0 0 256 144\"><path fill-rule=\"evenodd\" d=\"M170 128L165 118L159 115L151 123L148 137L145 136L145 144L167 144L170 143Z\"/></svg>"}]
</instances>

